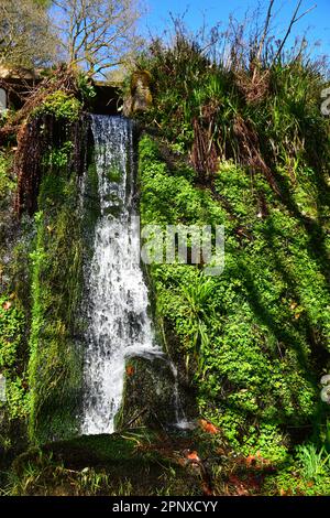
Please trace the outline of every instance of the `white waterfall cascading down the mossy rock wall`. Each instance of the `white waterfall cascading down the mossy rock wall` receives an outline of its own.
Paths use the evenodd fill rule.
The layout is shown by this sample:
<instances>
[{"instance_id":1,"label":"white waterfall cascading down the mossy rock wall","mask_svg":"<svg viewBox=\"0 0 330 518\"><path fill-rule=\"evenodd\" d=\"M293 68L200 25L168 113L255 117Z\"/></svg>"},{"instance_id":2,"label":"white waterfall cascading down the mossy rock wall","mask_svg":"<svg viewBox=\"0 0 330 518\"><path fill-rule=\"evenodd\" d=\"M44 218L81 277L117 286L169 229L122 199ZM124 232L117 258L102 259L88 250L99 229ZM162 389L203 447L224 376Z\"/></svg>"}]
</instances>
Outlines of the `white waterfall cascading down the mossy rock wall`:
<instances>
[{"instance_id":1,"label":"white waterfall cascading down the mossy rock wall","mask_svg":"<svg viewBox=\"0 0 330 518\"><path fill-rule=\"evenodd\" d=\"M100 216L86 268L87 331L82 434L112 433L122 402L125 358L161 356L147 315L140 236L132 222L133 122L91 116Z\"/></svg>"}]
</instances>

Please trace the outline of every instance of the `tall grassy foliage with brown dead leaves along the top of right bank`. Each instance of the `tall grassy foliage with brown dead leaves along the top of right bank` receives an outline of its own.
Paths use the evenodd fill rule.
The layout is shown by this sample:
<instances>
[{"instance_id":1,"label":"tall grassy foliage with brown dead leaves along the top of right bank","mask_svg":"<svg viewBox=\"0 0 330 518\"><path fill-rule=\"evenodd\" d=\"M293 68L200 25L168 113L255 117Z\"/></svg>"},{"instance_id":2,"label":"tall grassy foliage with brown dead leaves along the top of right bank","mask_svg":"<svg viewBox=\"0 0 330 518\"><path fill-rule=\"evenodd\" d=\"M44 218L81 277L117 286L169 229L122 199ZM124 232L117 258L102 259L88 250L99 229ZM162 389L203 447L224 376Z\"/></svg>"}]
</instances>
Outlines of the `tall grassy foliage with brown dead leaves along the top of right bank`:
<instances>
[{"instance_id":1,"label":"tall grassy foliage with brown dead leaves along the top of right bank","mask_svg":"<svg viewBox=\"0 0 330 518\"><path fill-rule=\"evenodd\" d=\"M156 127L173 149L191 153L196 166L200 160L211 160L212 171L198 171L202 182L216 172L216 158L234 159L267 171L268 181L278 182L284 196L290 183L286 202L292 208L312 217L322 211L326 217L330 125L320 111L326 71L311 63L300 46L274 63L271 40L258 67L253 52L242 57L243 40L239 43L235 35L230 40L230 31L227 37L221 42L219 33L211 35L201 48L200 39L176 23L169 45L153 42L140 57L140 67L153 78L153 107L142 116L144 122ZM230 64L228 56L226 62L215 57L220 42ZM318 193L312 204L310 188Z\"/></svg>"}]
</instances>

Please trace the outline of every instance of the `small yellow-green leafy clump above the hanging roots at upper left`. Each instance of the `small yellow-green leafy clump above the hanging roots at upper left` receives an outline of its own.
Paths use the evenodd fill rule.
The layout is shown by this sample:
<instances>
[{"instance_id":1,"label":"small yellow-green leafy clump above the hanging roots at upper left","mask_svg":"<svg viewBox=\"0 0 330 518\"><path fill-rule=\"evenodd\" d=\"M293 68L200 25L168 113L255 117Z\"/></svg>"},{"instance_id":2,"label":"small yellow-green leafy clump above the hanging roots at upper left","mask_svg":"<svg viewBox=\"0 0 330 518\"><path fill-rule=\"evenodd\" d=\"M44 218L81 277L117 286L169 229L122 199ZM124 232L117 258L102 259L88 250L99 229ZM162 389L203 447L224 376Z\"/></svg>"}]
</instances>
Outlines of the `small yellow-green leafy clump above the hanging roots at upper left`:
<instances>
[{"instance_id":1,"label":"small yellow-green leafy clump above the hanging roots at upper left","mask_svg":"<svg viewBox=\"0 0 330 518\"><path fill-rule=\"evenodd\" d=\"M63 90L50 94L33 111L33 116L42 114L53 115L57 120L65 119L68 122L75 122L80 115L81 104L73 95L68 95Z\"/></svg>"}]
</instances>

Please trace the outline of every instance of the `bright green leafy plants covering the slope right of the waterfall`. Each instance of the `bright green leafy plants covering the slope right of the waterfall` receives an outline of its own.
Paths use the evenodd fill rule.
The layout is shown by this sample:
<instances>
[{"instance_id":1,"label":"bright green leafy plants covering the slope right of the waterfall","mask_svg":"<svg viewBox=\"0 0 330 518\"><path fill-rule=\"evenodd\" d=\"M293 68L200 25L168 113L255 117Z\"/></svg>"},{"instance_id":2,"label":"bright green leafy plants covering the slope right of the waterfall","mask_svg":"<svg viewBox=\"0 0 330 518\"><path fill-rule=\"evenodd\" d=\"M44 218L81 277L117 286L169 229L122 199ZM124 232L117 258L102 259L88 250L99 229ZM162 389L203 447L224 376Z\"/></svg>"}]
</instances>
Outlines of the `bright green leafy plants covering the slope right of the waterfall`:
<instances>
[{"instance_id":1,"label":"bright green leafy plants covering the slope right of the waterfall","mask_svg":"<svg viewBox=\"0 0 330 518\"><path fill-rule=\"evenodd\" d=\"M142 223L224 224L226 269L208 279L194 266L153 265L158 317L194 357L202 414L244 454L285 461L295 430L320 436L329 414L318 386L328 368L329 239L318 248L322 228L306 225L261 173L221 162L201 190L186 170L178 159L168 169L156 142L141 140Z\"/></svg>"}]
</instances>

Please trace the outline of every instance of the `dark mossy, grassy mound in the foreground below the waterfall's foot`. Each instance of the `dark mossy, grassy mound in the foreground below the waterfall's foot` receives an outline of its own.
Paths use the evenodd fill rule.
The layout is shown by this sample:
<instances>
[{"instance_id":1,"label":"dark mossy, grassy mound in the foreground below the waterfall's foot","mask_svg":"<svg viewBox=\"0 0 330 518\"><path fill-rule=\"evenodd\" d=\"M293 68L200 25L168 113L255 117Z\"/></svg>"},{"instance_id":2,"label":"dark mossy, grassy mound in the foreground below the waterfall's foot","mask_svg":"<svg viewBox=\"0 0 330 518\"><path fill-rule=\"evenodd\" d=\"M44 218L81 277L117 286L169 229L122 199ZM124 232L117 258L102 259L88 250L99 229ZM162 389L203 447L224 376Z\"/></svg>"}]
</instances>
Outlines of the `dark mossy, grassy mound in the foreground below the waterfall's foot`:
<instances>
[{"instance_id":1,"label":"dark mossy, grassy mound in the foreground below the waterfall's foot","mask_svg":"<svg viewBox=\"0 0 330 518\"><path fill-rule=\"evenodd\" d=\"M175 445L168 436L140 429L30 449L13 463L8 494L198 496L198 470L178 464Z\"/></svg>"}]
</instances>

